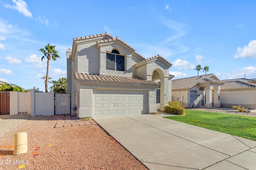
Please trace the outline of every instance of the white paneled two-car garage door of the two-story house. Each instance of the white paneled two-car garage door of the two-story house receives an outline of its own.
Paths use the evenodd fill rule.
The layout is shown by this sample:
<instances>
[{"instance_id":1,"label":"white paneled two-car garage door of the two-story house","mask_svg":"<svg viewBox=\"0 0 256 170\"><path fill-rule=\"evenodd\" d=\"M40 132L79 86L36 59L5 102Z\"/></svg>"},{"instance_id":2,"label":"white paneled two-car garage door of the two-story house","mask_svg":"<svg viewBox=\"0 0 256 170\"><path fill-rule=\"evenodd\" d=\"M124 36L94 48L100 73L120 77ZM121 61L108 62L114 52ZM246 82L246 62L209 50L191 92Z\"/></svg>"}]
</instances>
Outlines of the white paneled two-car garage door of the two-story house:
<instances>
[{"instance_id":1,"label":"white paneled two-car garage door of the two-story house","mask_svg":"<svg viewBox=\"0 0 256 170\"><path fill-rule=\"evenodd\" d=\"M146 91L94 90L93 117L148 113Z\"/></svg>"}]
</instances>

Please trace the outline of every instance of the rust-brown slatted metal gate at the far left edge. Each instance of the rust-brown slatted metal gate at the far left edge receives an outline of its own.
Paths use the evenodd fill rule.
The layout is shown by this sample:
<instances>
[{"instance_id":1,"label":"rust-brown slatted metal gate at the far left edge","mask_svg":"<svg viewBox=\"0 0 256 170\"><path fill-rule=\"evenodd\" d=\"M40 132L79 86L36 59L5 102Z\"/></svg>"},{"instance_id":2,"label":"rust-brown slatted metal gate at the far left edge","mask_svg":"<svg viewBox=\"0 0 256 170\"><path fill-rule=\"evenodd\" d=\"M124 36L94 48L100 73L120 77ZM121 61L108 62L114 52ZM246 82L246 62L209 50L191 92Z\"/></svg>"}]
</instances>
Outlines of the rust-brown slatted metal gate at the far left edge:
<instances>
[{"instance_id":1,"label":"rust-brown slatted metal gate at the far left edge","mask_svg":"<svg viewBox=\"0 0 256 170\"><path fill-rule=\"evenodd\" d=\"M0 92L0 115L10 115L10 92Z\"/></svg>"}]
</instances>

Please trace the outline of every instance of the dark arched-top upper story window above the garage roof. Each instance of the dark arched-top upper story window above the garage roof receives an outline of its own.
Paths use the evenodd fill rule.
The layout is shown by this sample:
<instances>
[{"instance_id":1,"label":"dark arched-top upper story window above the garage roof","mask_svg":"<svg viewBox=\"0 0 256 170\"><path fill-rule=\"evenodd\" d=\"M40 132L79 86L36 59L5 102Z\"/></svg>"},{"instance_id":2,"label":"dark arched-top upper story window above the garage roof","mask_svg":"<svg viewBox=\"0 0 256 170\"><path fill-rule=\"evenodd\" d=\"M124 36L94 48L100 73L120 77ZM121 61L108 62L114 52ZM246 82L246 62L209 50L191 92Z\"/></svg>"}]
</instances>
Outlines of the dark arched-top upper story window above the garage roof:
<instances>
[{"instance_id":1,"label":"dark arched-top upper story window above the garage roof","mask_svg":"<svg viewBox=\"0 0 256 170\"><path fill-rule=\"evenodd\" d=\"M106 69L124 71L124 56L119 54L116 49L112 50L111 53L106 53Z\"/></svg>"}]
</instances>

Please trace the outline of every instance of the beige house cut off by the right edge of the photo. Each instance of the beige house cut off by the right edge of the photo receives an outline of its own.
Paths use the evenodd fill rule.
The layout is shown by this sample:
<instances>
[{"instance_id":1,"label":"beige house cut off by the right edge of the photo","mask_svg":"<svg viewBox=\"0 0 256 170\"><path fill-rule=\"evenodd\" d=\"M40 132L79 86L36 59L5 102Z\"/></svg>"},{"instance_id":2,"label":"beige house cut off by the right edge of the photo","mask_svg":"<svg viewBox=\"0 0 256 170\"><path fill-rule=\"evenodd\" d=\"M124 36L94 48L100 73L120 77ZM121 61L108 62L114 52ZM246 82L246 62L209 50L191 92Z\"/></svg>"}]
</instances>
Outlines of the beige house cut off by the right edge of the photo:
<instances>
[{"instance_id":1,"label":"beige house cut off by the right edge of the photo","mask_svg":"<svg viewBox=\"0 0 256 170\"><path fill-rule=\"evenodd\" d=\"M248 109L256 109L256 78L236 78L222 80L220 89L221 107L241 105Z\"/></svg>"}]
</instances>

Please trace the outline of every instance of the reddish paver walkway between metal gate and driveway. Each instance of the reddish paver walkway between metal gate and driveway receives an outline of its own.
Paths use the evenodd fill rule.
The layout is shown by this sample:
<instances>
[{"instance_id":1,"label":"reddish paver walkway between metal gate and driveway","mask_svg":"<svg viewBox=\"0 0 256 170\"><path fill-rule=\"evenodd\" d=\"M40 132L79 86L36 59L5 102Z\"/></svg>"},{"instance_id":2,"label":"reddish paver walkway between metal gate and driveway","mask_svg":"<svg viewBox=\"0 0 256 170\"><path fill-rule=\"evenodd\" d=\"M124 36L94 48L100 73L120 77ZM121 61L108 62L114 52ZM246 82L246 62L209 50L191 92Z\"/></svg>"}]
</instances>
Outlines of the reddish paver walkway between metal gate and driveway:
<instances>
[{"instance_id":1,"label":"reddish paver walkway between metal gate and driveway","mask_svg":"<svg viewBox=\"0 0 256 170\"><path fill-rule=\"evenodd\" d=\"M58 115L57 123L54 127L69 127L69 126L83 126L83 125L93 125L97 124L93 120L77 120L77 121L71 121L70 115Z\"/></svg>"}]
</instances>

